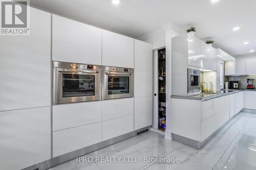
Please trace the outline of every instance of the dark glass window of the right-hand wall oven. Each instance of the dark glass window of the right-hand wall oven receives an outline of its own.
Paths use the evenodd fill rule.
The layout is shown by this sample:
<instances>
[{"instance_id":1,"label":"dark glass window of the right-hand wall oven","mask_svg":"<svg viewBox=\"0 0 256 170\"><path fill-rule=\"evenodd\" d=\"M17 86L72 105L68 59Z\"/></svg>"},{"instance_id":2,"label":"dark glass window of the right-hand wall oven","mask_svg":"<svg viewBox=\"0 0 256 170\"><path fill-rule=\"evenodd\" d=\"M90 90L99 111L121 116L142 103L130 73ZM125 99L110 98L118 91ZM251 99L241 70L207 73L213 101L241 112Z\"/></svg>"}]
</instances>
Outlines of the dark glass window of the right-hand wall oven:
<instances>
[{"instance_id":1,"label":"dark glass window of the right-hand wall oven","mask_svg":"<svg viewBox=\"0 0 256 170\"><path fill-rule=\"evenodd\" d=\"M108 94L129 93L129 77L108 76Z\"/></svg>"}]
</instances>

